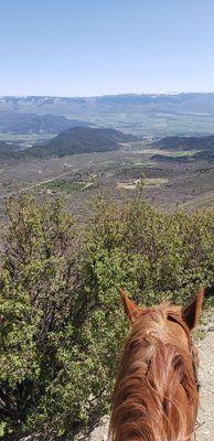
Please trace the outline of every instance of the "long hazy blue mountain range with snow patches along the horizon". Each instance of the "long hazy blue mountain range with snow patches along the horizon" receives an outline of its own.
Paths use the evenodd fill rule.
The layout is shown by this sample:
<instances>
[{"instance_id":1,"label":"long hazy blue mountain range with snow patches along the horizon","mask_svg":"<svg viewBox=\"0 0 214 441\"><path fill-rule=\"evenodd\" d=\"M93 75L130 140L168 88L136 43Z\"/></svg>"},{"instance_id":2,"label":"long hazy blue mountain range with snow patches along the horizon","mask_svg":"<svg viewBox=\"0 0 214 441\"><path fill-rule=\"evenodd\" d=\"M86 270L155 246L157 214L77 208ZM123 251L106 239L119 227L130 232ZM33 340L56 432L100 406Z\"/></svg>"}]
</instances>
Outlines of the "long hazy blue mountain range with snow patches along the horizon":
<instances>
[{"instance_id":1,"label":"long hazy blue mountain range with snow patches along the horizon","mask_svg":"<svg viewBox=\"0 0 214 441\"><path fill-rule=\"evenodd\" d=\"M178 93L178 94L125 94L97 97L50 97L50 96L3 96L0 97L0 111L15 110L38 115L84 115L94 111L132 111L140 109L143 114L157 111L214 115L214 93Z\"/></svg>"}]
</instances>

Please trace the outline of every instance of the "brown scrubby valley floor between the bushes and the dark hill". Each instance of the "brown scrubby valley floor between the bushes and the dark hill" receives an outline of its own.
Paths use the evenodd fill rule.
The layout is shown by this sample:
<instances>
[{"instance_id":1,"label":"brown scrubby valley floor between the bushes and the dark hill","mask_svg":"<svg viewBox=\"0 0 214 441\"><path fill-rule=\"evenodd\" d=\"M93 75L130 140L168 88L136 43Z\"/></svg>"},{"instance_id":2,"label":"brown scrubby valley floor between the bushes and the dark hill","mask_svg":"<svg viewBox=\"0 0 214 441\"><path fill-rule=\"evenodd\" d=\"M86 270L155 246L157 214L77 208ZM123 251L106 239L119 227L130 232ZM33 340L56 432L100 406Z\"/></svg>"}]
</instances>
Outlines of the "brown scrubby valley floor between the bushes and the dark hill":
<instances>
[{"instance_id":1,"label":"brown scrubby valley floor between the bushes and the dark hill","mask_svg":"<svg viewBox=\"0 0 214 441\"><path fill-rule=\"evenodd\" d=\"M213 163L194 161L191 155L186 162L159 161L154 152L137 143L111 152L2 163L0 205L9 195L23 192L35 197L63 194L67 208L85 220L90 198L100 193L132 198L143 175L142 197L163 211L214 208Z\"/></svg>"}]
</instances>

